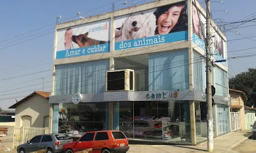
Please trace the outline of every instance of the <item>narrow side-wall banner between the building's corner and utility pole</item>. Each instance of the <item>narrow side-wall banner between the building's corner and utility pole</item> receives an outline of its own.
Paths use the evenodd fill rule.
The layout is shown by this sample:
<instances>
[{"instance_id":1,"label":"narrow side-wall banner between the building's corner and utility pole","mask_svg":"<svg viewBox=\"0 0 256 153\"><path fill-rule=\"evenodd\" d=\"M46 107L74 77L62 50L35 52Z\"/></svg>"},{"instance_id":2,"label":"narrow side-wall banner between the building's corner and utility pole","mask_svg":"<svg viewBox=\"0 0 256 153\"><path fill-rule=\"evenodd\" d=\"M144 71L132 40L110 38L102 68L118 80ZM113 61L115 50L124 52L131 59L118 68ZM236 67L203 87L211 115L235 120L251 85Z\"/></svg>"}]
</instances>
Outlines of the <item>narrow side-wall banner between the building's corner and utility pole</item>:
<instances>
[{"instance_id":1,"label":"narrow side-wall banner between the building's corner and utility pole","mask_svg":"<svg viewBox=\"0 0 256 153\"><path fill-rule=\"evenodd\" d=\"M200 48L205 50L206 18L192 5L192 40Z\"/></svg>"}]
</instances>

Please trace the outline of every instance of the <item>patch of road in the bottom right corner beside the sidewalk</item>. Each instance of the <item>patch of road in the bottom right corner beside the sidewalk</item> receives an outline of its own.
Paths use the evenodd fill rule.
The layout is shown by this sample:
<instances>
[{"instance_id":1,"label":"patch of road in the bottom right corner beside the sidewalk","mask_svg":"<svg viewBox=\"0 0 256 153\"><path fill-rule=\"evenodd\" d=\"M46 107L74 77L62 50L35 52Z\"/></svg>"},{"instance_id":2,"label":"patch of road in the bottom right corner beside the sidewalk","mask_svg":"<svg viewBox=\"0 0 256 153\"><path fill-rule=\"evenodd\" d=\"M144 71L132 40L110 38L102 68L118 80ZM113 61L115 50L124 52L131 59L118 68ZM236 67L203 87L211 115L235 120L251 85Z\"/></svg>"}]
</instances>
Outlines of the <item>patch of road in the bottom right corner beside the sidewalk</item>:
<instances>
[{"instance_id":1,"label":"patch of road in the bottom right corner beside the sidewalk","mask_svg":"<svg viewBox=\"0 0 256 153\"><path fill-rule=\"evenodd\" d=\"M235 149L237 152L240 153L255 153L256 152L256 140L252 138L246 140L242 144L238 145Z\"/></svg>"}]
</instances>

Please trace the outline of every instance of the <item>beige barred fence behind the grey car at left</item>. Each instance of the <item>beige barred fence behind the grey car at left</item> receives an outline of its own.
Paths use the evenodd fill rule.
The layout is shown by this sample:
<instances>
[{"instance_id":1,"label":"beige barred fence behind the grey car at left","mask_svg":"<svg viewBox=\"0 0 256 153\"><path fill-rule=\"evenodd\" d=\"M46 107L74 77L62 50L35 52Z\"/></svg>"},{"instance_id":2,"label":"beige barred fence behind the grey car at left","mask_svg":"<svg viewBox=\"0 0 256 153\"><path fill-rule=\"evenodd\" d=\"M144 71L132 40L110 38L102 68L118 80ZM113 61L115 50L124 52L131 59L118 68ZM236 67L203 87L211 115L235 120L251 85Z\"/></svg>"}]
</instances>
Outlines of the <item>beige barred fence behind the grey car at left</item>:
<instances>
[{"instance_id":1,"label":"beige barred fence behind the grey car at left","mask_svg":"<svg viewBox=\"0 0 256 153\"><path fill-rule=\"evenodd\" d=\"M45 128L40 127L21 127L14 129L14 147L24 144L36 135L45 134Z\"/></svg>"}]
</instances>

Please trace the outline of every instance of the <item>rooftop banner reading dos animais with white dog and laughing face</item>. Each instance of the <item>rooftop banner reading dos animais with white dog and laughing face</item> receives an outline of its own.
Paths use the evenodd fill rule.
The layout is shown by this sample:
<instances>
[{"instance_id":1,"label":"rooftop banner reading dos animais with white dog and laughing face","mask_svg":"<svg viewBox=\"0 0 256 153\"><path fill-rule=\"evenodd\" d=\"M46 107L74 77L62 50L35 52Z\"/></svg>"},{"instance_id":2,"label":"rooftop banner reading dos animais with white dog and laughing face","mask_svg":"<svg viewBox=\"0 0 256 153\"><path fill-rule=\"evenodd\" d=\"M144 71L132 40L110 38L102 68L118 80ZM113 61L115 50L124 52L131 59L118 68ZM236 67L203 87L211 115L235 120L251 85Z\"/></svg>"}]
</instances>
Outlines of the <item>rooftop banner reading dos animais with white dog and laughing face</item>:
<instances>
[{"instance_id":1,"label":"rooftop banner reading dos animais with white dog and laughing face","mask_svg":"<svg viewBox=\"0 0 256 153\"><path fill-rule=\"evenodd\" d=\"M115 50L187 40L187 1L115 19Z\"/></svg>"}]
</instances>

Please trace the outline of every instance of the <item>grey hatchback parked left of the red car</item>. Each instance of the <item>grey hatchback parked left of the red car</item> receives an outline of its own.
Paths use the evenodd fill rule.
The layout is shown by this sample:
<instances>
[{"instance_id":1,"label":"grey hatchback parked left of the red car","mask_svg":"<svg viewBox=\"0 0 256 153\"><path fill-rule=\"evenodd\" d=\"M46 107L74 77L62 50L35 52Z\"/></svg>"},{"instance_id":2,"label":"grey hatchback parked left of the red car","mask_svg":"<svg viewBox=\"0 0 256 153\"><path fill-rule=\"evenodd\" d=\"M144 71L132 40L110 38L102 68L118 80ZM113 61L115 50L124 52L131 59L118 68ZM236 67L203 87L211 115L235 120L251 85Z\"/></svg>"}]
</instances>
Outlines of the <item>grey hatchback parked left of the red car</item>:
<instances>
[{"instance_id":1,"label":"grey hatchback parked left of the red car","mask_svg":"<svg viewBox=\"0 0 256 153\"><path fill-rule=\"evenodd\" d=\"M17 147L17 152L28 153L47 149L47 153L61 152L65 144L73 142L73 139L65 134L43 134L36 135L26 144Z\"/></svg>"}]
</instances>

